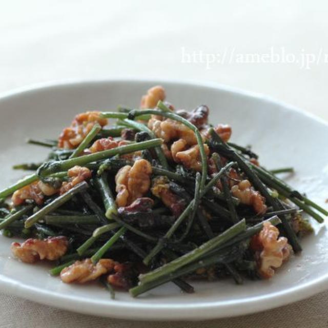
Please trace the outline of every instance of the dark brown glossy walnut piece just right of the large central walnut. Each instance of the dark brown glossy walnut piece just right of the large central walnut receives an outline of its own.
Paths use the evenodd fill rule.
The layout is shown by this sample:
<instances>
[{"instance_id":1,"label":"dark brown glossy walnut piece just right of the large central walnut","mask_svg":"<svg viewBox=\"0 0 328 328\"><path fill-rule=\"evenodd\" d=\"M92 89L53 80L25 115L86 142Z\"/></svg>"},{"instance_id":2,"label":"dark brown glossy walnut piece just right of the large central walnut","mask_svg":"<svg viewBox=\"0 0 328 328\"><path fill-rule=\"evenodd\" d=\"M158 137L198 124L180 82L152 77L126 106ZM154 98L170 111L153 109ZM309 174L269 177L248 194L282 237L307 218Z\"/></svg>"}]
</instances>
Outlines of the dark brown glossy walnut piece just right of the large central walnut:
<instances>
[{"instance_id":1,"label":"dark brown glossy walnut piece just right of the large central walnut","mask_svg":"<svg viewBox=\"0 0 328 328\"><path fill-rule=\"evenodd\" d=\"M152 194L161 199L175 217L178 217L186 208L185 201L172 193L170 190L169 179L166 176L158 176L153 179Z\"/></svg>"}]
</instances>

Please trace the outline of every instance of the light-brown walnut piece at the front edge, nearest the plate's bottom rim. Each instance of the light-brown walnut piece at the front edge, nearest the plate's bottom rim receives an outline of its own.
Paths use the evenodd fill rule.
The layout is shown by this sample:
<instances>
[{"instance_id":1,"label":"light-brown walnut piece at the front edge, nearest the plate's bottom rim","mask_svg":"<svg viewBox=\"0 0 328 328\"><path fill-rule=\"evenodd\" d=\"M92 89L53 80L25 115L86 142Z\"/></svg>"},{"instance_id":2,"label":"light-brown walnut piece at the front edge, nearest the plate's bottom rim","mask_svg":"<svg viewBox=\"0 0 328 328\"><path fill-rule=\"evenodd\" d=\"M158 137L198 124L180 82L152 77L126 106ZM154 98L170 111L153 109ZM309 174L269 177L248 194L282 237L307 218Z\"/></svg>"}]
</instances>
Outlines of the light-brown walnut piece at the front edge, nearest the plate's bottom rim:
<instances>
[{"instance_id":1,"label":"light-brown walnut piece at the front edge, nearest the plate's bottom rim","mask_svg":"<svg viewBox=\"0 0 328 328\"><path fill-rule=\"evenodd\" d=\"M94 264L90 258L86 258L82 261L76 261L69 267L61 270L60 279L66 283L86 283L113 271L116 264L118 263L105 258Z\"/></svg>"}]
</instances>

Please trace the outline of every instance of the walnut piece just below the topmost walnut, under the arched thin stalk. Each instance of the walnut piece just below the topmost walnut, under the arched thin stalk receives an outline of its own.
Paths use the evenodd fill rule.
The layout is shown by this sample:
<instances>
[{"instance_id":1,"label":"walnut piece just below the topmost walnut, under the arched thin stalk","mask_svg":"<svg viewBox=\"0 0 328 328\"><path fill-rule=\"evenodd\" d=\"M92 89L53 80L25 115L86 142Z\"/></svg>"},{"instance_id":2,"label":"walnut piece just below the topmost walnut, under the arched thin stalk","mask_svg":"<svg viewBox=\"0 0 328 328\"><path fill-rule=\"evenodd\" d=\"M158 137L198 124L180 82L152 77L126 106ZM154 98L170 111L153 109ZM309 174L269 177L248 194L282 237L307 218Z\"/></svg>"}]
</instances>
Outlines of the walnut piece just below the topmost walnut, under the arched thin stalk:
<instances>
[{"instance_id":1,"label":"walnut piece just below the topmost walnut, under the arched thin stalk","mask_svg":"<svg viewBox=\"0 0 328 328\"><path fill-rule=\"evenodd\" d=\"M151 129L158 138L162 138L165 142L174 139L184 139L190 146L197 144L197 138L193 130L170 118L161 121L152 117L148 121L148 128Z\"/></svg>"}]
</instances>

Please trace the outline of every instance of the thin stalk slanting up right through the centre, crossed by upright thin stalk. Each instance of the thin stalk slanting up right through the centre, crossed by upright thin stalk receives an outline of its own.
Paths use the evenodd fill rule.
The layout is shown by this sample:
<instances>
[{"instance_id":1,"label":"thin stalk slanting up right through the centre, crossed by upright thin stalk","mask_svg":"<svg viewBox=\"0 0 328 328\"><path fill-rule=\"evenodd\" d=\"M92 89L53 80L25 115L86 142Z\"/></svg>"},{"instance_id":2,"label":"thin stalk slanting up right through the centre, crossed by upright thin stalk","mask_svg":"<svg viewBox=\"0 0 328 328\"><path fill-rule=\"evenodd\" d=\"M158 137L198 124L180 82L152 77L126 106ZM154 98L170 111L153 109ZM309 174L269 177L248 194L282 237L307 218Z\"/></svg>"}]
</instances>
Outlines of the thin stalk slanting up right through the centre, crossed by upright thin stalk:
<instances>
[{"instance_id":1,"label":"thin stalk slanting up right through the centre, crossed by upright thin stalk","mask_svg":"<svg viewBox=\"0 0 328 328\"><path fill-rule=\"evenodd\" d=\"M200 199L206 195L207 192L209 192L212 187L216 184L218 179L222 176L224 172L229 170L233 165L235 165L234 162L228 163L224 168L222 168L218 173L215 174L215 176L211 179L211 181L200 191ZM163 238L161 238L157 245L151 250L151 252L144 258L144 263L146 265L149 264L151 259L160 252L160 250L163 248L165 240L171 238L171 236L174 234L174 232L177 230L177 228L180 226L183 220L189 215L192 208L194 206L194 200L192 200L185 211L181 213L181 215L177 218L177 220L174 222L173 226L168 230L168 232L165 234Z\"/></svg>"}]
</instances>

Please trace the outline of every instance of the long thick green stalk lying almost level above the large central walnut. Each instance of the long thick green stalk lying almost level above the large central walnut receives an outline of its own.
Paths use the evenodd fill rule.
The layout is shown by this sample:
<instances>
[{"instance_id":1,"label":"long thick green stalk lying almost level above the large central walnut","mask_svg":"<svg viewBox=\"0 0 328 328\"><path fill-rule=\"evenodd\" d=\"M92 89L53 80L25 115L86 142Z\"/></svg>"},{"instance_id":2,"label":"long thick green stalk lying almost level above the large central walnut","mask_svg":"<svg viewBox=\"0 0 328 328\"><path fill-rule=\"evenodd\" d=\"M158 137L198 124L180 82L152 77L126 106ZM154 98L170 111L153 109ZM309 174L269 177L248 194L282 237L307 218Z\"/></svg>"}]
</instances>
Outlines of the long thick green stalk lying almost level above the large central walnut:
<instances>
[{"instance_id":1,"label":"long thick green stalk lying almost level above the large central walnut","mask_svg":"<svg viewBox=\"0 0 328 328\"><path fill-rule=\"evenodd\" d=\"M50 161L44 163L43 166L41 166L38 169L37 174L42 176L47 176L51 173L58 172L58 171L67 171L71 169L75 165L79 166L85 166L86 164L98 160L104 160L109 157L115 156L115 155L124 155L128 153L132 153L138 150L144 150L149 149L153 147L160 146L162 143L161 139L153 139L153 140L147 140L142 142L136 142L135 144L121 146L109 150L104 150L101 152L79 156L76 158L69 158L65 160L59 160L59 161ZM35 180L33 180L35 181ZM32 182L33 182L32 181ZM24 185L25 186L25 185ZM0 197L2 196L2 193L0 193Z\"/></svg>"}]
</instances>

